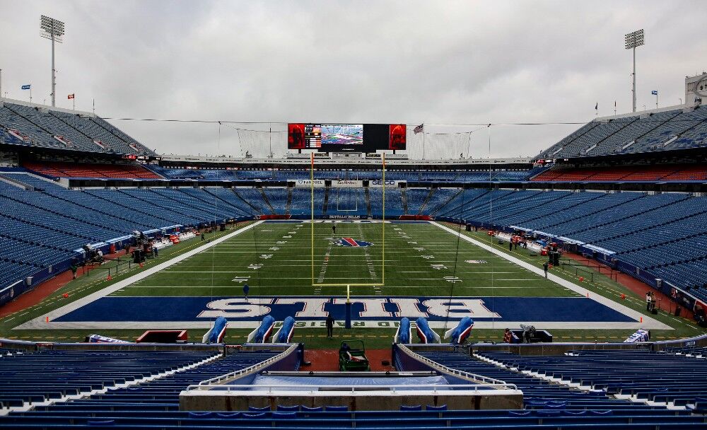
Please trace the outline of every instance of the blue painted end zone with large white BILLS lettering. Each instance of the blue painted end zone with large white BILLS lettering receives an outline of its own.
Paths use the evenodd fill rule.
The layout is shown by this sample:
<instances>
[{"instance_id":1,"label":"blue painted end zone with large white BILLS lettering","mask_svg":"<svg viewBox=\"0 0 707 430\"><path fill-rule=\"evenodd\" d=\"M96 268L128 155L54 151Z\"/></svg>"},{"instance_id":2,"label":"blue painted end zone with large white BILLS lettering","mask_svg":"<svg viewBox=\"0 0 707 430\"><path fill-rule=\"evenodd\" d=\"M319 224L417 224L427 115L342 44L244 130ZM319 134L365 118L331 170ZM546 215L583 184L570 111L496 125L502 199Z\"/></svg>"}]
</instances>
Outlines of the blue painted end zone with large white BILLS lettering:
<instances>
[{"instance_id":1,"label":"blue painted end zone with large white BILLS lettering","mask_svg":"<svg viewBox=\"0 0 707 430\"><path fill-rule=\"evenodd\" d=\"M419 315L404 315L399 305L392 303L398 298L385 299L383 310L389 316L366 315L366 306L361 300L379 300L381 297L352 298L352 314L354 320L390 320L399 321L403 316L413 317ZM279 300L297 299L296 303L278 303ZM326 298L325 298L326 299ZM416 310L427 313L430 321L444 321L447 319L446 310L443 312L432 310L424 304L425 301L448 303L452 306L448 315L451 319L461 319L465 316L472 317L475 321L496 320L505 321L542 321L542 322L636 322L623 313L618 312L602 303L585 297L408 297L415 302ZM208 321L214 318L213 313L199 316L204 311L223 310L223 316L229 321L260 321L263 315L271 315L277 321L288 316L305 318L306 320L325 320L325 316L308 317L305 315L305 303L310 303L308 309L321 305L322 297L267 297L261 302L254 303L255 298L250 298L250 303L238 297L122 297L108 296L99 298L93 303L78 308L53 320L56 322L109 322L109 321ZM335 319L343 320L346 305L341 298L338 303L329 299L324 303L325 312L332 313ZM264 302L267 303L264 303ZM469 305L472 303L472 305ZM380 306L380 303L379 303ZM477 311L470 311L464 306L476 306ZM446 307L445 307L446 309ZM239 313L244 316L239 316ZM249 313L249 314L247 314ZM300 313L300 315L296 315ZM490 316L496 313L498 316Z\"/></svg>"}]
</instances>

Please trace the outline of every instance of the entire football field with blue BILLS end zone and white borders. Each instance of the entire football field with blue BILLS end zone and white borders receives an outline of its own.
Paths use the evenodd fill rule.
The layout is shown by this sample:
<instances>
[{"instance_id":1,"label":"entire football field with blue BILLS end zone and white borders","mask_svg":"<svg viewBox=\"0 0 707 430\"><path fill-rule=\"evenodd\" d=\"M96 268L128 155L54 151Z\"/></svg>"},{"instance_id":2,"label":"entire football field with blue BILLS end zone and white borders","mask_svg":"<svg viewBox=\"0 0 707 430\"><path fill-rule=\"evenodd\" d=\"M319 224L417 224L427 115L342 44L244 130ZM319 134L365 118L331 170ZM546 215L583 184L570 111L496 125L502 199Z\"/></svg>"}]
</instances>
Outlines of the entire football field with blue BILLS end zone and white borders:
<instances>
[{"instance_id":1,"label":"entire football field with blue BILLS end zone and white borders","mask_svg":"<svg viewBox=\"0 0 707 430\"><path fill-rule=\"evenodd\" d=\"M271 315L306 332L329 313L343 325L348 291L359 330L390 331L402 317L445 329L464 316L477 330L671 330L567 277L546 279L527 250L498 248L428 221L259 221L15 328L199 331L224 316L250 330Z\"/></svg>"}]
</instances>

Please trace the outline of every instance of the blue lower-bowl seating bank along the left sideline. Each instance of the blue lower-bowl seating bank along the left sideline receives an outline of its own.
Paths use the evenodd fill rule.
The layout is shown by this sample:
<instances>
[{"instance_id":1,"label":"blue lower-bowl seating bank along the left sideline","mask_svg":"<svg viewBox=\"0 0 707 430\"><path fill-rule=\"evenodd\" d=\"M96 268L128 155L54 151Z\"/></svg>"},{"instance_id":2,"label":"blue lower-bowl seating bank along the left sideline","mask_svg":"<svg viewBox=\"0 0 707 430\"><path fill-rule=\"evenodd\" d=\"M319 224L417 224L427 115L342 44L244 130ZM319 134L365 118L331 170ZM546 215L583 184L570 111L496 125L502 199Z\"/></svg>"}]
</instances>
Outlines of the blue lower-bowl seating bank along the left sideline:
<instances>
[{"instance_id":1,"label":"blue lower-bowl seating bank along the left sideline","mask_svg":"<svg viewBox=\"0 0 707 430\"><path fill-rule=\"evenodd\" d=\"M270 213L255 189L250 205L220 187L68 190L28 173L1 177L34 190L0 180L0 288L77 257L86 243Z\"/></svg>"}]
</instances>

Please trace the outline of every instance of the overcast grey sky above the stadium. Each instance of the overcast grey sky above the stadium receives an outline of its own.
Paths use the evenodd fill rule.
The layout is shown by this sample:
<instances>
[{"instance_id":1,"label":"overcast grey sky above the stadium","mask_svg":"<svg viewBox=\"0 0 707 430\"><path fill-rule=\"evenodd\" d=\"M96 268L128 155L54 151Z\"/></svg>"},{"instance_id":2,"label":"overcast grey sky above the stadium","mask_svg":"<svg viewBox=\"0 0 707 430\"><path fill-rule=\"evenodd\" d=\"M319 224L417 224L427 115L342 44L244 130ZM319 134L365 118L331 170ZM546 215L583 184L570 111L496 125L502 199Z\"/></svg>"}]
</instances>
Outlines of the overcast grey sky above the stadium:
<instances>
[{"instance_id":1,"label":"overcast grey sky above the stadium","mask_svg":"<svg viewBox=\"0 0 707 430\"><path fill-rule=\"evenodd\" d=\"M684 98L707 69L707 7L696 1L0 0L2 92L50 103L40 15L66 23L57 105L114 118L236 122L587 122ZM269 124L112 121L159 153L261 155ZM448 124L448 125L443 125ZM283 129L274 124L274 129ZM428 136L426 157L533 156L578 126L498 126ZM276 152L283 134L273 136ZM422 155L420 136L411 156Z\"/></svg>"}]
</instances>

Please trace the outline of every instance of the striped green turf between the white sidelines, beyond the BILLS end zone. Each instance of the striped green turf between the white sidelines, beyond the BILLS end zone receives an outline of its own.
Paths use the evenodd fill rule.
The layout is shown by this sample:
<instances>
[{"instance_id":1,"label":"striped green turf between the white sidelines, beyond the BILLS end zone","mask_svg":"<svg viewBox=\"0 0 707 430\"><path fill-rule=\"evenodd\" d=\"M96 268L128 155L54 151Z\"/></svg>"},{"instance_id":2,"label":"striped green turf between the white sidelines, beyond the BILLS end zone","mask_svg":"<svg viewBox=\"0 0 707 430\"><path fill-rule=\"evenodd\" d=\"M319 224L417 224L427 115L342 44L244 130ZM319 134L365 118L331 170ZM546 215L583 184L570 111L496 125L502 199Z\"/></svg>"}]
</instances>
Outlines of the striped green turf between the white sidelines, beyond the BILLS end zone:
<instances>
[{"instance_id":1,"label":"striped green turf between the white sidelines, beyond the BILLS end zone","mask_svg":"<svg viewBox=\"0 0 707 430\"><path fill-rule=\"evenodd\" d=\"M368 248L334 245L331 224L315 223L314 279L311 224L264 223L114 295L240 296L243 281L234 281L239 277L247 278L252 296L345 294L344 286L326 284L383 282L382 225L386 229L385 285L355 286L354 295L576 295L436 226L410 223L338 224L336 238L351 237L374 244ZM254 264L262 267L249 268ZM460 281L450 282L445 277Z\"/></svg>"}]
</instances>

